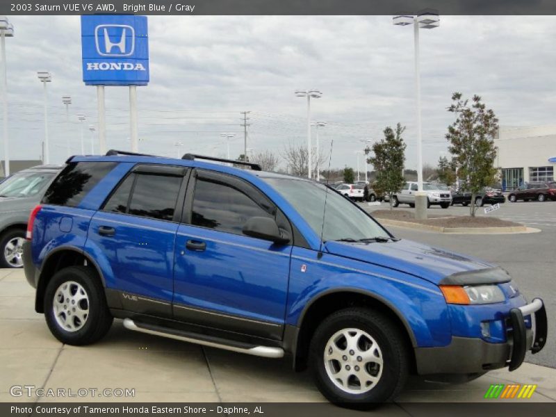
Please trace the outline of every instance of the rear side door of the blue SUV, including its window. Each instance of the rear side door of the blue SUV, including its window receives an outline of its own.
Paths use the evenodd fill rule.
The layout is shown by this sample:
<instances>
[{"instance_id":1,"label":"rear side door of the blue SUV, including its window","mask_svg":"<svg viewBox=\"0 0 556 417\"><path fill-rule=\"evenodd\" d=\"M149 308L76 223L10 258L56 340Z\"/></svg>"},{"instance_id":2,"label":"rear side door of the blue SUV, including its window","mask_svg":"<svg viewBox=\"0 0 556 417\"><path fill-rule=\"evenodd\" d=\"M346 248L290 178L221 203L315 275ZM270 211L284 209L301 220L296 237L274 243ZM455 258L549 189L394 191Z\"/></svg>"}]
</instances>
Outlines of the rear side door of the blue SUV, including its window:
<instances>
[{"instance_id":1,"label":"rear side door of the blue SUV, including its window","mask_svg":"<svg viewBox=\"0 0 556 417\"><path fill-rule=\"evenodd\" d=\"M104 263L107 292L123 309L172 316L174 245L187 172L137 165L90 222L87 250Z\"/></svg>"}]
</instances>

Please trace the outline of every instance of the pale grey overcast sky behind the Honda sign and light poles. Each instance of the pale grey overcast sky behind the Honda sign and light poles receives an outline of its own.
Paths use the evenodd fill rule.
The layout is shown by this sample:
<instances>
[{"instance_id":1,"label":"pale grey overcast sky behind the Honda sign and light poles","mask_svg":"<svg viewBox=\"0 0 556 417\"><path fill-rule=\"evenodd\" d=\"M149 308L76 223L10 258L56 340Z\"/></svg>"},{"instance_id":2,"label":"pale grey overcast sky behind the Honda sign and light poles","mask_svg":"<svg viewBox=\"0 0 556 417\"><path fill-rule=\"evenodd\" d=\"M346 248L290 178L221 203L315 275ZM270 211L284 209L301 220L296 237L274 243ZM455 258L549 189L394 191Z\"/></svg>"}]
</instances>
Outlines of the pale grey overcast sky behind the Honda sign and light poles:
<instances>
[{"instance_id":1,"label":"pale grey overcast sky behind the Honda sign and light poles","mask_svg":"<svg viewBox=\"0 0 556 417\"><path fill-rule=\"evenodd\" d=\"M51 162L81 149L77 113L95 124L96 90L81 74L79 17L12 16L6 40L10 156L40 156L44 139L42 83L49 71ZM436 165L452 122L450 96L481 95L502 126L556 124L556 17L441 16L421 33L424 161ZM318 88L313 120L332 167L355 167L360 139L377 140L385 126L407 126L407 167L416 167L414 44L411 26L389 16L149 17L151 81L138 88L140 151L225 155L222 132L236 133L231 155L243 153L240 111L252 111L248 147L279 154L306 145L306 101L297 89ZM63 95L71 95L70 129ZM129 149L128 89L106 88L108 147ZM1 121L0 121L1 122ZM313 135L314 139L314 135ZM96 138L95 138L96 140ZM95 142L98 152L98 144ZM0 149L0 152L3 152ZM362 161L362 159L361 159ZM361 163L362 169L362 163Z\"/></svg>"}]
</instances>

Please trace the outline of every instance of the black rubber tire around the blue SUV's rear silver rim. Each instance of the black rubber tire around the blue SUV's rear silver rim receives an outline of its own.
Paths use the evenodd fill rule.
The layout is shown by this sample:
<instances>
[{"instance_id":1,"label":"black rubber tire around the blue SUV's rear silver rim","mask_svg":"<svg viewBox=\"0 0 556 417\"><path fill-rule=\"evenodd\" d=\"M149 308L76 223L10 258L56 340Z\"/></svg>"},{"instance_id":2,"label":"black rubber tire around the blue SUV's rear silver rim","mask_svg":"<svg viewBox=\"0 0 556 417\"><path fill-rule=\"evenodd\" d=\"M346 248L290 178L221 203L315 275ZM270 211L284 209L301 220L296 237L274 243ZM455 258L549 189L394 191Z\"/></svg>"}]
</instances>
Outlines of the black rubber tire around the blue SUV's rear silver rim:
<instances>
[{"instance_id":1,"label":"black rubber tire around the blue SUV's rear silver rim","mask_svg":"<svg viewBox=\"0 0 556 417\"><path fill-rule=\"evenodd\" d=\"M83 320L84 325L74 332L63 328L54 313L54 297L57 296L58 288L70 281L81 285L88 297L88 316ZM44 317L50 332L62 343L79 346L99 341L110 329L113 317L108 310L104 288L97 272L87 266L70 266L56 272L44 291Z\"/></svg>"}]
</instances>

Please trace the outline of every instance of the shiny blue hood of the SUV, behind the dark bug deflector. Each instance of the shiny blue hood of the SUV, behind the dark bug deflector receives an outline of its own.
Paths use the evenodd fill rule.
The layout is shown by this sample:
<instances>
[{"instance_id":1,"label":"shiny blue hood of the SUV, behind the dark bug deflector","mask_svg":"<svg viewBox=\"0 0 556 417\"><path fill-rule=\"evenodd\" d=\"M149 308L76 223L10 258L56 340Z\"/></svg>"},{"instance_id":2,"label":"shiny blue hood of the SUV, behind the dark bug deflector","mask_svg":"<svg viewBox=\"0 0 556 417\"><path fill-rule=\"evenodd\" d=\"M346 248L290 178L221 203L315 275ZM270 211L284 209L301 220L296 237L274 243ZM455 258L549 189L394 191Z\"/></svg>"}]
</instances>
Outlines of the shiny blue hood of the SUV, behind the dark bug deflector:
<instances>
[{"instance_id":1,"label":"shiny blue hood of the SUV, behind the dark bug deflector","mask_svg":"<svg viewBox=\"0 0 556 417\"><path fill-rule=\"evenodd\" d=\"M329 241L325 247L332 254L399 270L437 285L448 275L494 266L479 259L405 239L388 243Z\"/></svg>"}]
</instances>

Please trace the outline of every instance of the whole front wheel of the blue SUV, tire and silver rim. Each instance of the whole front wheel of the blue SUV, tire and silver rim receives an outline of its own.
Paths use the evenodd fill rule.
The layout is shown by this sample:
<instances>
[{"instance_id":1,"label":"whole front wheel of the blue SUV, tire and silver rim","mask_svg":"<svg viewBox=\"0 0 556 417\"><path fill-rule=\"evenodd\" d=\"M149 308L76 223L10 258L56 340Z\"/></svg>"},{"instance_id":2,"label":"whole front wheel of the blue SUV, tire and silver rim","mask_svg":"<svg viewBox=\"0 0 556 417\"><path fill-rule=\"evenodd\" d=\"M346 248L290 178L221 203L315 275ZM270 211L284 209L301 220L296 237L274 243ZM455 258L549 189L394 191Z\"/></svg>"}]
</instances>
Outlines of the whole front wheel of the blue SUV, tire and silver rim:
<instances>
[{"instance_id":1,"label":"whole front wheel of the blue SUV, tire and silver rim","mask_svg":"<svg viewBox=\"0 0 556 417\"><path fill-rule=\"evenodd\" d=\"M376 311L351 308L325 318L311 339L310 364L327 400L370 409L392 401L409 373L400 329Z\"/></svg>"}]
</instances>

